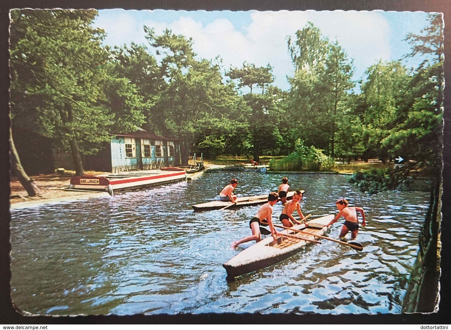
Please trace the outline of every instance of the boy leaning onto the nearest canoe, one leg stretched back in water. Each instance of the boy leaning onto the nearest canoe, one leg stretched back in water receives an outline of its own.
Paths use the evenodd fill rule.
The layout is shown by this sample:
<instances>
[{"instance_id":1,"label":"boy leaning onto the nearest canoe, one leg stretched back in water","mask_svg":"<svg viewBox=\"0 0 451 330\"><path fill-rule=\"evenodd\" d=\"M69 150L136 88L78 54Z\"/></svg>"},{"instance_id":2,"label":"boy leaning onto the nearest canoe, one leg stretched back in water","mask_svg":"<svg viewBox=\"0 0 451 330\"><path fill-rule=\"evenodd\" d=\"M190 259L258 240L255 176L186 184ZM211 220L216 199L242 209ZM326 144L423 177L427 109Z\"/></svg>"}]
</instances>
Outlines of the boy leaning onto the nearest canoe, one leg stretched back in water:
<instances>
[{"instance_id":1,"label":"boy leaning onto the nearest canoe, one leg stretched back in water","mask_svg":"<svg viewBox=\"0 0 451 330\"><path fill-rule=\"evenodd\" d=\"M270 193L268 195L268 202L260 206L255 216L249 221L249 227L252 230L252 235L233 242L231 248L234 249L237 247L237 245L244 242L260 242L262 240L262 235L260 234L260 222L264 219L267 220L269 228L271 229L272 237L274 238L274 240L277 239L278 235L276 228L274 228L274 226L272 225L272 206L277 203L278 198L279 196L277 195L277 193Z\"/></svg>"}]
</instances>

